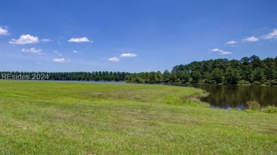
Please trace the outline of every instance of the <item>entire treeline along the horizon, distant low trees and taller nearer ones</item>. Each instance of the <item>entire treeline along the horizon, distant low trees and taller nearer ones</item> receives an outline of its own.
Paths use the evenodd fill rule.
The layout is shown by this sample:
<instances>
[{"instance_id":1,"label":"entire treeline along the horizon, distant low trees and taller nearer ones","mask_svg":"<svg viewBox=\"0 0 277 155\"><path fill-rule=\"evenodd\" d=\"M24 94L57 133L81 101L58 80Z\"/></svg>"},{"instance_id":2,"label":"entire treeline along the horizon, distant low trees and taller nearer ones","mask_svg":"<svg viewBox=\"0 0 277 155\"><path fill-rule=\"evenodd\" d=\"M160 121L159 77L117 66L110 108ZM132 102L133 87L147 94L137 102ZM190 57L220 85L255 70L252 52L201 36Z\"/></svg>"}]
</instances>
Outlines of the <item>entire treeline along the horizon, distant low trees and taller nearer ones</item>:
<instances>
[{"instance_id":1,"label":"entire treeline along the horizon, distant low trees and taller nearer ones","mask_svg":"<svg viewBox=\"0 0 277 155\"><path fill-rule=\"evenodd\" d=\"M4 78L3 78L4 75ZM252 84L277 85L277 57L259 59L256 55L237 59L210 59L191 62L165 70L130 74L128 72L18 72L1 71L1 79L11 75L30 79L74 81L126 81L136 83L199 83L199 84ZM22 79L22 77L17 79ZM43 78L45 79L45 78Z\"/></svg>"}]
</instances>

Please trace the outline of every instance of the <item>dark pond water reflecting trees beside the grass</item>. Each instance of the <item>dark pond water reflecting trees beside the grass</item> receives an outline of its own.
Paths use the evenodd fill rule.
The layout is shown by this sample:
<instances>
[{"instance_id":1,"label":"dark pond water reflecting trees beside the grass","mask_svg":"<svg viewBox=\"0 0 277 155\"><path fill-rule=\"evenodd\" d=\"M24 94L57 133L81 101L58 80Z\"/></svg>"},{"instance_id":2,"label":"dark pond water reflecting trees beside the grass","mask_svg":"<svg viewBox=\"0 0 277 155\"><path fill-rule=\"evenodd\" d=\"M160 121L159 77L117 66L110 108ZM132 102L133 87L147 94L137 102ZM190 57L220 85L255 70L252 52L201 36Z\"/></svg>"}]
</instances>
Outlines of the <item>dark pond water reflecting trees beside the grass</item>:
<instances>
[{"instance_id":1,"label":"dark pond water reflecting trees beside the grass","mask_svg":"<svg viewBox=\"0 0 277 155\"><path fill-rule=\"evenodd\" d=\"M210 103L212 107L224 109L244 109L244 105L247 101L258 101L261 106L277 106L276 86L238 86L213 84L178 84L177 86L192 86L195 88L204 89L210 93L210 95L205 98L201 98L201 101Z\"/></svg>"}]
</instances>

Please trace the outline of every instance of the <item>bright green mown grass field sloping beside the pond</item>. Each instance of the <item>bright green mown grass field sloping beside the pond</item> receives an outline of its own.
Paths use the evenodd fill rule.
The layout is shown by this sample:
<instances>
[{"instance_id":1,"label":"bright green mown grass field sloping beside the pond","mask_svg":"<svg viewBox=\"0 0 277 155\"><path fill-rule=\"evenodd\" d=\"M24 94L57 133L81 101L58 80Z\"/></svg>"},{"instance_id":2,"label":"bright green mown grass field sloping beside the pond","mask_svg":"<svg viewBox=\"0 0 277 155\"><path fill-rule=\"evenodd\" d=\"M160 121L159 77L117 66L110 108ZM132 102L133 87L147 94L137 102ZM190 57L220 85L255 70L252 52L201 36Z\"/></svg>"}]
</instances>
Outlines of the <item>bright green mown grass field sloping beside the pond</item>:
<instances>
[{"instance_id":1,"label":"bright green mown grass field sloping beside the pond","mask_svg":"<svg viewBox=\"0 0 277 155\"><path fill-rule=\"evenodd\" d=\"M277 115L207 108L200 89L0 81L0 154L276 154Z\"/></svg>"}]
</instances>

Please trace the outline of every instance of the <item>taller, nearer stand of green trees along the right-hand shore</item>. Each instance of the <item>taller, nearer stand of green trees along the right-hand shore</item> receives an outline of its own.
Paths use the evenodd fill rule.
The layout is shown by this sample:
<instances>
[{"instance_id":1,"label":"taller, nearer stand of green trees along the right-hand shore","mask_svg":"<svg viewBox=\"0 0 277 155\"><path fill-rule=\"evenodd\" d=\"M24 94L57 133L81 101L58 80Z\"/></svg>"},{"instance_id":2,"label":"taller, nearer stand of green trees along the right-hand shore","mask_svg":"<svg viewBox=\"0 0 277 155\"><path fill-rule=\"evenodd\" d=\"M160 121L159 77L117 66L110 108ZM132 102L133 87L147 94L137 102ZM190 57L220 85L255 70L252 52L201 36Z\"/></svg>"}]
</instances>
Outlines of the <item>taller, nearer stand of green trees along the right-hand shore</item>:
<instances>
[{"instance_id":1,"label":"taller, nearer stand of green trees along the right-hand shore","mask_svg":"<svg viewBox=\"0 0 277 155\"><path fill-rule=\"evenodd\" d=\"M256 55L237 59L210 59L173 67L172 71L129 74L125 81L139 83L200 83L277 85L277 57Z\"/></svg>"}]
</instances>

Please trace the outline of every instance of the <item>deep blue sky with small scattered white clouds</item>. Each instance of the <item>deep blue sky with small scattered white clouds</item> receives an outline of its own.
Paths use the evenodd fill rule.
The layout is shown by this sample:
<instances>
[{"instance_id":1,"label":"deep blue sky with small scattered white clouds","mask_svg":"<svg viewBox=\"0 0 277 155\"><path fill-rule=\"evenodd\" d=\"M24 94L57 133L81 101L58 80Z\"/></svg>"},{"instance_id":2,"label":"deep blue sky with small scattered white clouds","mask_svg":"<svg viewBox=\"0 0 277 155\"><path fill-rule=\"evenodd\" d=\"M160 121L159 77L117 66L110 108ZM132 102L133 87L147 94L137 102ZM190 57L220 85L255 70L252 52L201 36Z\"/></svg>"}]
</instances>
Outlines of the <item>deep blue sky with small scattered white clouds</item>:
<instances>
[{"instance_id":1,"label":"deep blue sky with small scattered white clouds","mask_svg":"<svg viewBox=\"0 0 277 155\"><path fill-rule=\"evenodd\" d=\"M276 0L0 0L0 71L164 71L277 57L276 38Z\"/></svg>"}]
</instances>

